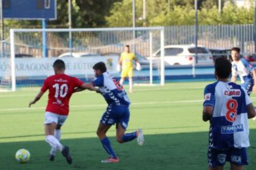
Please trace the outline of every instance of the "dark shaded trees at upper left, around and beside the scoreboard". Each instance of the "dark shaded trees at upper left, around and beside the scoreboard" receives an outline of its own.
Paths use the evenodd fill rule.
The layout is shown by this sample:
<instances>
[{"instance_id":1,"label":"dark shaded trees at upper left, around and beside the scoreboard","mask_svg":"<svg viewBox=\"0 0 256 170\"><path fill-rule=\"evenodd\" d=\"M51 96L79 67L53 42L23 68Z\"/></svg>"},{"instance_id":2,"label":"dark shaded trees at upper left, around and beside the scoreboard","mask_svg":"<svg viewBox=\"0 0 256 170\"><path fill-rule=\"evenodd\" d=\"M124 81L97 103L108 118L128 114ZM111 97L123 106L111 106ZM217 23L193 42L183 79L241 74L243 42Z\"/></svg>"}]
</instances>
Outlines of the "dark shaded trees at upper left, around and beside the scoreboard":
<instances>
[{"instance_id":1,"label":"dark shaded trees at upper left, around and beside the scoreboard","mask_svg":"<svg viewBox=\"0 0 256 170\"><path fill-rule=\"evenodd\" d=\"M104 27L105 16L114 2L120 0L72 0L72 27ZM68 0L57 0L57 19L48 21L49 28L67 28L69 26ZM13 20L5 19L6 28L41 28L40 20ZM8 30L7 30L8 31Z\"/></svg>"}]
</instances>

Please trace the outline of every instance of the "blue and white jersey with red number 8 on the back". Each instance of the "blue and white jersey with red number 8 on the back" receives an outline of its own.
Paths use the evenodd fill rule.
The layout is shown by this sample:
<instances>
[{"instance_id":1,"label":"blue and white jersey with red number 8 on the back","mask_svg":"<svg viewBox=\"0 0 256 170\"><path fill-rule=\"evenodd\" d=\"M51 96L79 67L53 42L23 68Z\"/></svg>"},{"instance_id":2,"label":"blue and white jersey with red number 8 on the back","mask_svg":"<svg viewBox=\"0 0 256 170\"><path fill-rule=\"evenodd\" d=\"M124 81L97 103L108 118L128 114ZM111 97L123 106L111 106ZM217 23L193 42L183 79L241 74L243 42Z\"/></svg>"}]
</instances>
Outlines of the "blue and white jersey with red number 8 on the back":
<instances>
[{"instance_id":1,"label":"blue and white jersey with red number 8 on the back","mask_svg":"<svg viewBox=\"0 0 256 170\"><path fill-rule=\"evenodd\" d=\"M217 81L204 89L203 106L213 106L209 145L212 148L249 147L246 106L251 100L246 90L232 82Z\"/></svg>"}]
</instances>

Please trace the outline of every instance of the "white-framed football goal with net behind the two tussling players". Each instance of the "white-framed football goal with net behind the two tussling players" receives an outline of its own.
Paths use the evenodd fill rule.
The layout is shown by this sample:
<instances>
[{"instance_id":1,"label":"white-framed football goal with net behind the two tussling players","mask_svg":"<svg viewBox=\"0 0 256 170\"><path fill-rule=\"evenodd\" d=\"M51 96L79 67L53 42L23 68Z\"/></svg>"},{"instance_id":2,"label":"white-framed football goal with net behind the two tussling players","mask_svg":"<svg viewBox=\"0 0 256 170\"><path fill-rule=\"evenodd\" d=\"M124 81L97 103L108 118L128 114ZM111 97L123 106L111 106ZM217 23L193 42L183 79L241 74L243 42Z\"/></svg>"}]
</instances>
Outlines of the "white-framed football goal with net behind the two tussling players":
<instances>
[{"instance_id":1,"label":"white-framed football goal with net behind the two tussling players","mask_svg":"<svg viewBox=\"0 0 256 170\"><path fill-rule=\"evenodd\" d=\"M85 82L94 78L92 66L99 61L120 78L116 68L125 45L130 45L142 67L134 70L134 83L163 85L163 27L11 29L9 72L1 70L0 88L41 86L46 77L54 74L52 65L58 58L65 61L66 74ZM152 52L158 49L161 57L152 60Z\"/></svg>"}]
</instances>

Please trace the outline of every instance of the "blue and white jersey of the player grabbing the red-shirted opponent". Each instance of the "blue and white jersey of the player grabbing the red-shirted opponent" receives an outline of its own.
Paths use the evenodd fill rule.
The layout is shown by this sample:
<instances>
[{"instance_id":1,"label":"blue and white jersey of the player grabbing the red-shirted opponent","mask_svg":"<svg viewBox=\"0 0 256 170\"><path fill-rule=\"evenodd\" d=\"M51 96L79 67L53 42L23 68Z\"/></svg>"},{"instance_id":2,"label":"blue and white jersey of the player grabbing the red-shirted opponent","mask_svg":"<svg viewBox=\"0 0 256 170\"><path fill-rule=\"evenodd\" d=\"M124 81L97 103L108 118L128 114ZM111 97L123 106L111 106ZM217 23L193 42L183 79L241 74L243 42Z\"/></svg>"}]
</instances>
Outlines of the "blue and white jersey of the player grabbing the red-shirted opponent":
<instances>
[{"instance_id":1,"label":"blue and white jersey of the player grabbing the red-shirted opponent","mask_svg":"<svg viewBox=\"0 0 256 170\"><path fill-rule=\"evenodd\" d=\"M129 106L131 104L123 86L108 72L95 78L92 83L99 87L108 105Z\"/></svg>"}]
</instances>

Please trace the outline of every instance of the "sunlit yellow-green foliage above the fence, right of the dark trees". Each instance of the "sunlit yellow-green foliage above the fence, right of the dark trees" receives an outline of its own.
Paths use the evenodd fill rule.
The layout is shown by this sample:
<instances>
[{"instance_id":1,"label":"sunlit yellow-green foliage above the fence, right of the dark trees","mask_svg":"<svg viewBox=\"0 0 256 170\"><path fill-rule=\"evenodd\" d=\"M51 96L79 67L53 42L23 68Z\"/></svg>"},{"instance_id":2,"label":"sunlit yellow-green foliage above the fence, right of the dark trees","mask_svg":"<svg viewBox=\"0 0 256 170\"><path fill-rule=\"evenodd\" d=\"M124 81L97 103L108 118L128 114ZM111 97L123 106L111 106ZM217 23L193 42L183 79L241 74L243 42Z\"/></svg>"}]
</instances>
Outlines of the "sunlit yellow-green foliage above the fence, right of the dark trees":
<instances>
[{"instance_id":1,"label":"sunlit yellow-green foliage above the fence, right of the dark trees","mask_svg":"<svg viewBox=\"0 0 256 170\"><path fill-rule=\"evenodd\" d=\"M123 0L113 4L111 15L106 17L108 26L131 26L131 2L132 0ZM147 0L146 3L146 26L194 24L194 0ZM220 13L218 0L198 0L198 23L202 25L253 23L253 0L250 0L250 3L251 7L247 9L238 8L230 0L222 0ZM136 3L136 26L142 26L139 20L142 10L142 4Z\"/></svg>"}]
</instances>

